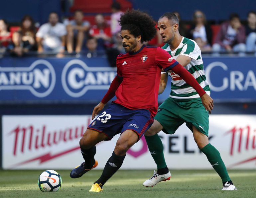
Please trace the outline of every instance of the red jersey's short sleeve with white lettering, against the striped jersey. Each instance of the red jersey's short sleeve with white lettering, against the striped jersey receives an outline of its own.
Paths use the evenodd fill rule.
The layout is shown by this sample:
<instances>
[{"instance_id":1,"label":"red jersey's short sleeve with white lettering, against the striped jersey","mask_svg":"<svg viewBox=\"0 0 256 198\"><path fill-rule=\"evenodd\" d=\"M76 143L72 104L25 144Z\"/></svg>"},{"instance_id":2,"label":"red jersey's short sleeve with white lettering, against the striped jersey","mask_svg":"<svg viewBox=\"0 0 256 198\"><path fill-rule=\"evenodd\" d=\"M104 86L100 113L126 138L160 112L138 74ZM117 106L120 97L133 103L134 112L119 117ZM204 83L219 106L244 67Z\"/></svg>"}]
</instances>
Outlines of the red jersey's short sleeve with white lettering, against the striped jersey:
<instances>
[{"instance_id":1,"label":"red jersey's short sleeve with white lettering, against the striped jersey","mask_svg":"<svg viewBox=\"0 0 256 198\"><path fill-rule=\"evenodd\" d=\"M160 47L158 47L156 50L155 61L157 65L164 69L165 72L169 71L178 64L178 62L173 59L173 57L167 51Z\"/></svg>"}]
</instances>

